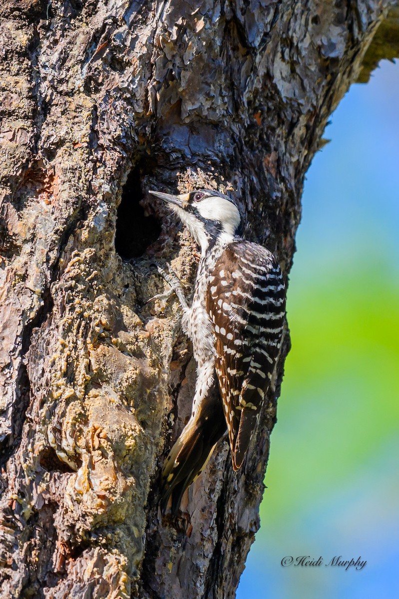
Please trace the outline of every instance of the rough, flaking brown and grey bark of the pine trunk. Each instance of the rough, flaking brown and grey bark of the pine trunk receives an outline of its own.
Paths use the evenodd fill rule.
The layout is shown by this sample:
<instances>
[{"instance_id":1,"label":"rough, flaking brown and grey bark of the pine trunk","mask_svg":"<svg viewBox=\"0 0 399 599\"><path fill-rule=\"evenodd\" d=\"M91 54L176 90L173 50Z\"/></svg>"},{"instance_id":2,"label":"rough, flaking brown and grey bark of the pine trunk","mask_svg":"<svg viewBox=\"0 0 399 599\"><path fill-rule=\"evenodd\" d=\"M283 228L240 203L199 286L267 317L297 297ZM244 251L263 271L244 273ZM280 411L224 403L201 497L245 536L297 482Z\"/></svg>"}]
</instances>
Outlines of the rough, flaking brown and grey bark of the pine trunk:
<instances>
[{"instance_id":1,"label":"rough, flaking brown and grey bark of the pine trunk","mask_svg":"<svg viewBox=\"0 0 399 599\"><path fill-rule=\"evenodd\" d=\"M234 597L289 335L242 470L221 441L162 520L195 364L176 299L146 302L164 288L153 262L188 295L197 263L146 190L234 189L246 238L288 276L304 174L387 10L2 2L2 597Z\"/></svg>"}]
</instances>

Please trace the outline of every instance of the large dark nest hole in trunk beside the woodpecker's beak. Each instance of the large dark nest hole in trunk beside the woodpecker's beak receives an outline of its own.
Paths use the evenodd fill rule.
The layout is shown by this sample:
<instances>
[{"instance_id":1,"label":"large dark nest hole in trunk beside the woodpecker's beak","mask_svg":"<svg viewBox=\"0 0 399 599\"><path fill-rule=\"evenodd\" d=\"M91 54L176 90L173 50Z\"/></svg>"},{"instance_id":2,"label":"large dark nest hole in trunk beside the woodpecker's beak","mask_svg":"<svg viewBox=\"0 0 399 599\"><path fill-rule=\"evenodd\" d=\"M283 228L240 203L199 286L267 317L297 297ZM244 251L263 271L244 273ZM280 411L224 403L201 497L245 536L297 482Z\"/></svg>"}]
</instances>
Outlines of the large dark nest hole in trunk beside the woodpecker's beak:
<instances>
[{"instance_id":1,"label":"large dark nest hole in trunk beside the woodpecker's beak","mask_svg":"<svg viewBox=\"0 0 399 599\"><path fill-rule=\"evenodd\" d=\"M143 198L140 165L129 173L123 186L122 201L116 218L115 249L121 258L142 256L147 247L161 234L161 224L155 216L146 216L140 205Z\"/></svg>"}]
</instances>

